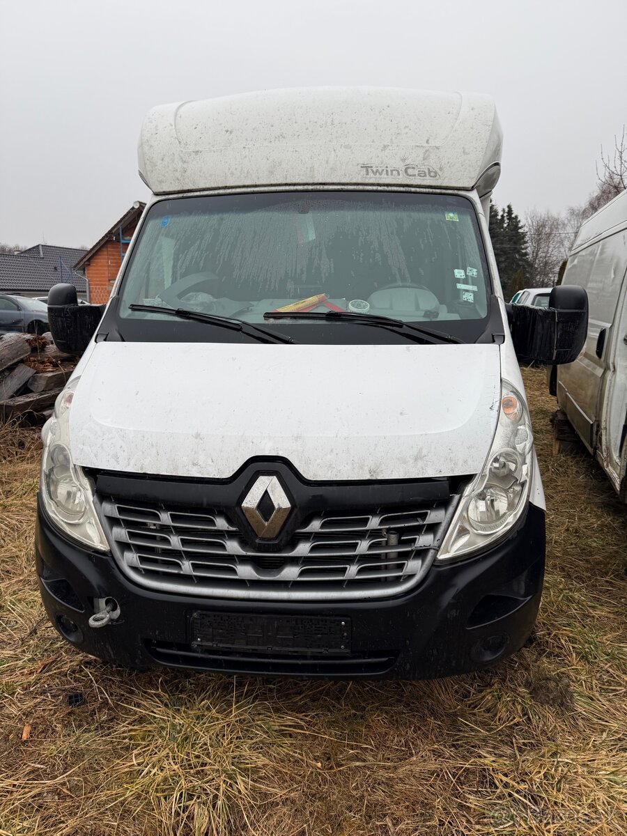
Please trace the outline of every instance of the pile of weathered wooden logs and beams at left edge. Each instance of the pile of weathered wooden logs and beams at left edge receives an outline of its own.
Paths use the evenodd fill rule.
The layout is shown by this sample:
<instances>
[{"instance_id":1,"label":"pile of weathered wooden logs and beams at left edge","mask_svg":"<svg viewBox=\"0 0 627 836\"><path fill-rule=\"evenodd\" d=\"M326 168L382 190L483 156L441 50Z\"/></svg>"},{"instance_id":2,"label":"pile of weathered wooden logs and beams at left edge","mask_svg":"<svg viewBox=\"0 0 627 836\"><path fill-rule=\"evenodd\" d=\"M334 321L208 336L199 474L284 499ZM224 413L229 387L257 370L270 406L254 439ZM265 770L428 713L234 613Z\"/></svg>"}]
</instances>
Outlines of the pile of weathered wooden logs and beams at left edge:
<instances>
[{"instance_id":1,"label":"pile of weathered wooden logs and beams at left edge","mask_svg":"<svg viewBox=\"0 0 627 836\"><path fill-rule=\"evenodd\" d=\"M49 333L0 337L0 422L43 423L77 362Z\"/></svg>"}]
</instances>

